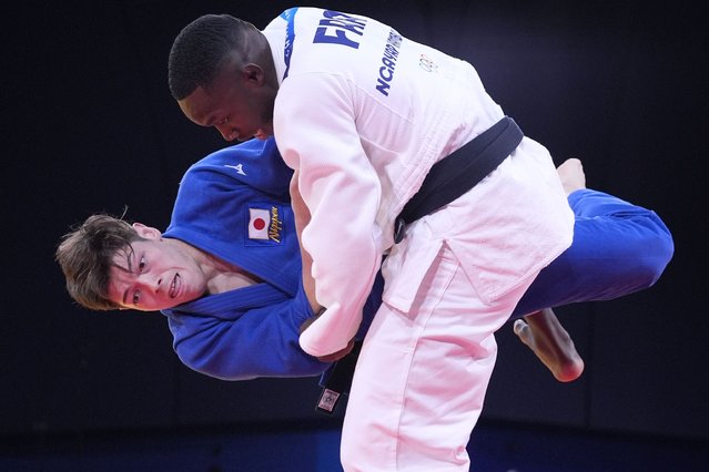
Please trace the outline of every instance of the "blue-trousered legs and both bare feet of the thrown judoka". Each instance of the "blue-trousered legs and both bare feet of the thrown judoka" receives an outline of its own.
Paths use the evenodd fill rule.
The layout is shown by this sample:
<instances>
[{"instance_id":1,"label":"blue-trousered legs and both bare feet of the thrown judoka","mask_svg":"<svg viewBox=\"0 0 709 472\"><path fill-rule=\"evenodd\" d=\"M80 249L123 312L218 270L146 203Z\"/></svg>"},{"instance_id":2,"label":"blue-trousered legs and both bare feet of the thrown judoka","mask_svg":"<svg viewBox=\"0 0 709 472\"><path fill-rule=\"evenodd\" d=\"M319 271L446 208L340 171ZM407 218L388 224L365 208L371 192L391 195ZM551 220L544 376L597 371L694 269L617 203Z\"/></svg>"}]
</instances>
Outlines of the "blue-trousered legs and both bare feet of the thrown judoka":
<instances>
[{"instance_id":1,"label":"blue-trousered legs and both bare feet of the thrown judoka","mask_svg":"<svg viewBox=\"0 0 709 472\"><path fill-rule=\"evenodd\" d=\"M655 213L586 191L579 160L567 160L557 173L576 214L574 244L525 294L514 316L524 315L524 321L517 319L514 329L557 380L568 382L581 374L584 361L546 307L616 298L649 287L671 258L672 240Z\"/></svg>"}]
</instances>

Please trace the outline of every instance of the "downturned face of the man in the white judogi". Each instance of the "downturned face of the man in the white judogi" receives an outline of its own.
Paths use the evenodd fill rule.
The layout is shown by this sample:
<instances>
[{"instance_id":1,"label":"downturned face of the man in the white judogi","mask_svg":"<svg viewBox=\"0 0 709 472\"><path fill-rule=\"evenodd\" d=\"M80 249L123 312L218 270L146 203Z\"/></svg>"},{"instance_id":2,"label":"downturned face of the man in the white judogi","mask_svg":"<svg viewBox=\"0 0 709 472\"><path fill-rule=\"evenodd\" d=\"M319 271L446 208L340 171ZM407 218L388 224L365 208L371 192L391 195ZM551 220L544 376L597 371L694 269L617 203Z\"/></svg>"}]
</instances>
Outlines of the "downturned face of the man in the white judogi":
<instances>
[{"instance_id":1,"label":"downturned face of the man in the white judogi","mask_svg":"<svg viewBox=\"0 0 709 472\"><path fill-rule=\"evenodd\" d=\"M214 126L226 141L265 140L273 135L276 90L266 85L259 66L235 69L226 64L209 89L200 86L178 104L188 119Z\"/></svg>"}]
</instances>

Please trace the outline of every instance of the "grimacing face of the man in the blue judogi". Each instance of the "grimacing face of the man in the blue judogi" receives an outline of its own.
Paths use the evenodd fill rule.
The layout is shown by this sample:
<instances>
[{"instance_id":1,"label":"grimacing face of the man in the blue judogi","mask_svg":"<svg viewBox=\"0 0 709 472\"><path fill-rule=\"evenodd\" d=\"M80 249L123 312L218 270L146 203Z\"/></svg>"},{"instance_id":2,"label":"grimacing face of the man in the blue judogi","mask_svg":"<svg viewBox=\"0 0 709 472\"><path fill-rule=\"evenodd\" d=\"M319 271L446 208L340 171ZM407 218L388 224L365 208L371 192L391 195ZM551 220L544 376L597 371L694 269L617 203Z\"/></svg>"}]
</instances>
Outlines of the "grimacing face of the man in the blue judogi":
<instances>
[{"instance_id":1,"label":"grimacing face of the man in the blue judogi","mask_svg":"<svg viewBox=\"0 0 709 472\"><path fill-rule=\"evenodd\" d=\"M153 228L150 228L153 229ZM109 275L109 298L123 308L158 311L200 298L206 277L181 242L162 239L160 232L142 235L114 256Z\"/></svg>"}]
</instances>

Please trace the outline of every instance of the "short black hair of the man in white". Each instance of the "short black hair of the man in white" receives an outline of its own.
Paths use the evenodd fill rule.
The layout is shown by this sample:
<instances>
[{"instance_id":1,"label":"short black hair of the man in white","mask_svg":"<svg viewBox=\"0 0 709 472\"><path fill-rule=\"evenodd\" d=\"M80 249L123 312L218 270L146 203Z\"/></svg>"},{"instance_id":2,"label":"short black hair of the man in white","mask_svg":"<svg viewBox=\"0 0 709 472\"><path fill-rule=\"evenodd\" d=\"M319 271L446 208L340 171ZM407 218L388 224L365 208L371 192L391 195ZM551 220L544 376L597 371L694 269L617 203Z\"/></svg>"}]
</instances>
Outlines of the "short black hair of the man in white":
<instances>
[{"instance_id":1,"label":"short black hair of the man in white","mask_svg":"<svg viewBox=\"0 0 709 472\"><path fill-rule=\"evenodd\" d=\"M226 54L243 47L246 27L251 24L230 14L205 14L184 27L168 61L172 96L182 100L199 86L210 86Z\"/></svg>"}]
</instances>

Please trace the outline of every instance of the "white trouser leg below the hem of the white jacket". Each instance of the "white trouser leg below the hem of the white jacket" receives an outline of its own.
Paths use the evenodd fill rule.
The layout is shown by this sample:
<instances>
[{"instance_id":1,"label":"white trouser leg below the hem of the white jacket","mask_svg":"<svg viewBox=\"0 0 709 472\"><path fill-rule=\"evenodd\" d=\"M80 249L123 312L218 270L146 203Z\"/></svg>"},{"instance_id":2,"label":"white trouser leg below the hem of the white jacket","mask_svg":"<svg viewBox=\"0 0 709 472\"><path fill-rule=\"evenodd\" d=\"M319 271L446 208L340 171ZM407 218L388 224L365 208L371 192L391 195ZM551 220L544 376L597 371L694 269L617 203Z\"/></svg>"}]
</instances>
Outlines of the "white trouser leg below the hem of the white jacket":
<instances>
[{"instance_id":1,"label":"white trouser leg below the hem of the white jacket","mask_svg":"<svg viewBox=\"0 0 709 472\"><path fill-rule=\"evenodd\" d=\"M485 305L443 245L408 312L382 306L348 400L345 471L468 470L466 445L497 353L494 332L528 285Z\"/></svg>"}]
</instances>

